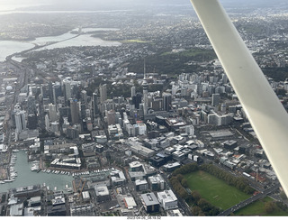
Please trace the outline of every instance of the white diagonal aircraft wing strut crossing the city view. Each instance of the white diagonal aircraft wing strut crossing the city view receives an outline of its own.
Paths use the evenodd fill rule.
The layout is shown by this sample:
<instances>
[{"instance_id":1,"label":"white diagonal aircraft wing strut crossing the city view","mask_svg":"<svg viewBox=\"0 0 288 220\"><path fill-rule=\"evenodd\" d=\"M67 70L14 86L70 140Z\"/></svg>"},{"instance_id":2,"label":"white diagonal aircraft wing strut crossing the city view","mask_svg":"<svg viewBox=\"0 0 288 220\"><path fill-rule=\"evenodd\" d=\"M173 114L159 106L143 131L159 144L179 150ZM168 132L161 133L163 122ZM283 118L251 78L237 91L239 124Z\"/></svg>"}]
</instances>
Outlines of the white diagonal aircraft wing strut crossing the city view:
<instances>
[{"instance_id":1,"label":"white diagonal aircraft wing strut crossing the city view","mask_svg":"<svg viewBox=\"0 0 288 220\"><path fill-rule=\"evenodd\" d=\"M219 0L191 0L247 118L288 195L288 115Z\"/></svg>"}]
</instances>

